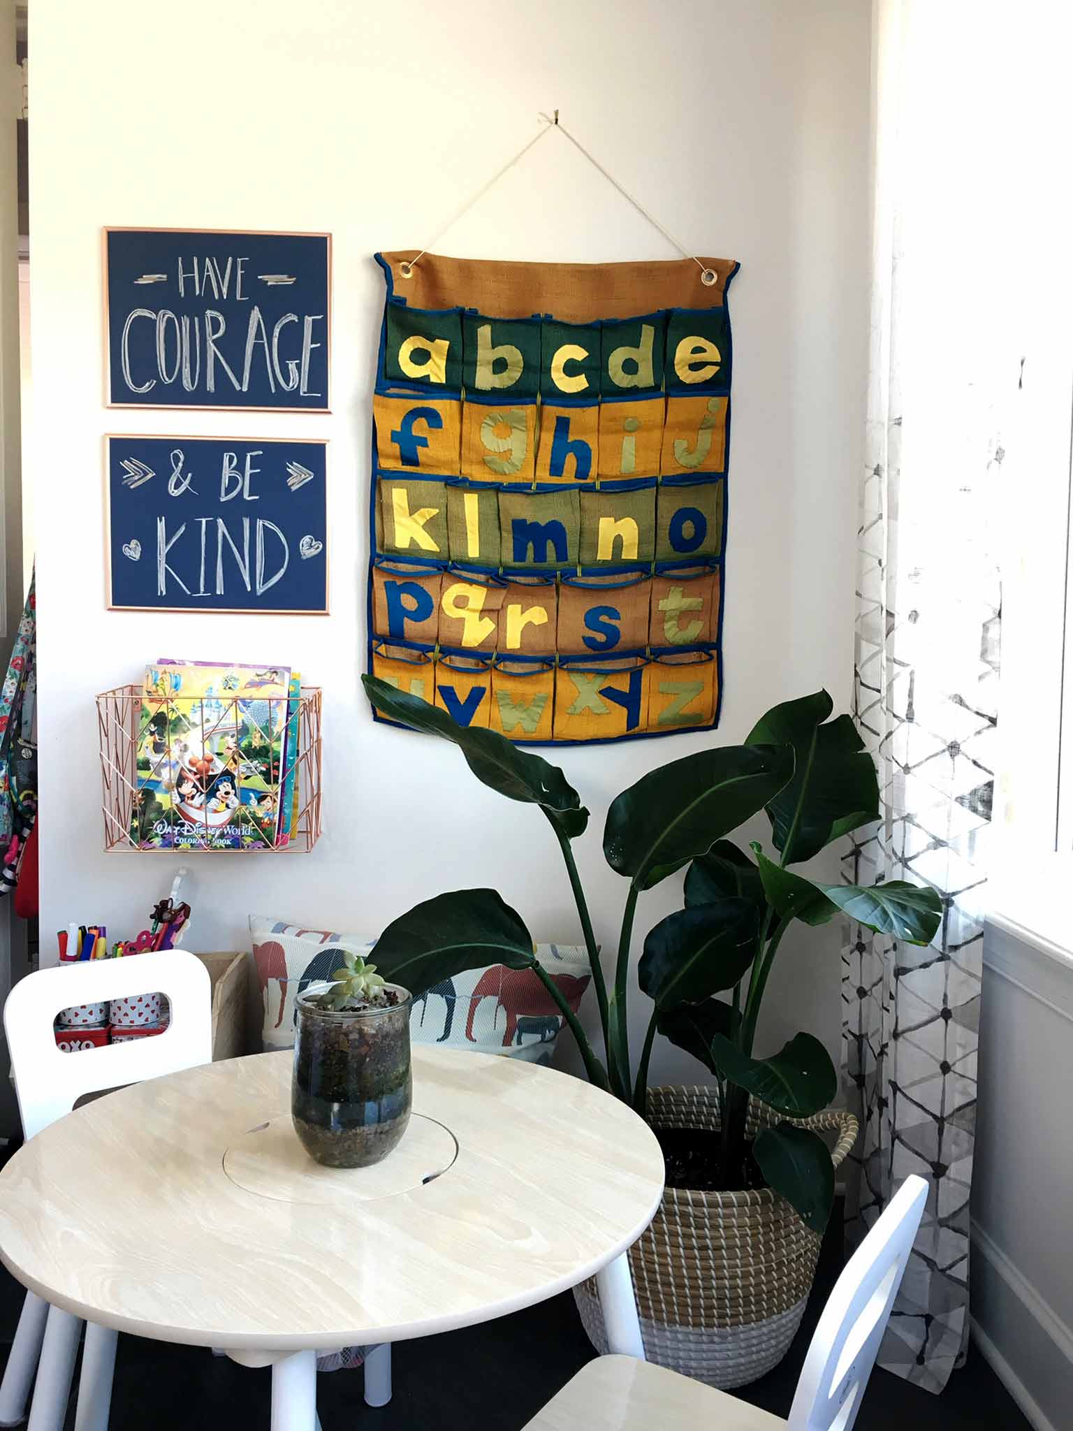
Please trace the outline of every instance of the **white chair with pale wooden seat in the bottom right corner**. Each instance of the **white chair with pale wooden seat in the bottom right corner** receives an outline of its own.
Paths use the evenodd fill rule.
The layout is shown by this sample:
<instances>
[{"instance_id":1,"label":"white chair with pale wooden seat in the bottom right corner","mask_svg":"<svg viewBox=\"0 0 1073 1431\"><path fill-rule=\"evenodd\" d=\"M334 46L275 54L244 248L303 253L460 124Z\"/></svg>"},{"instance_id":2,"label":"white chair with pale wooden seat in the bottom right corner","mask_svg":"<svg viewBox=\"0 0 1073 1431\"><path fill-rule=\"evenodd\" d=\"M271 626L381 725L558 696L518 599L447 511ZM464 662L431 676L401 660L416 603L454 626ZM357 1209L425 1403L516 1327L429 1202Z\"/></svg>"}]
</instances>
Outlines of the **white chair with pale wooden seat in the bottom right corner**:
<instances>
[{"instance_id":1,"label":"white chair with pale wooden seat in the bottom right corner","mask_svg":"<svg viewBox=\"0 0 1073 1431\"><path fill-rule=\"evenodd\" d=\"M525 1431L850 1431L927 1199L907 1178L847 1262L813 1335L790 1420L632 1357L598 1357Z\"/></svg>"}]
</instances>

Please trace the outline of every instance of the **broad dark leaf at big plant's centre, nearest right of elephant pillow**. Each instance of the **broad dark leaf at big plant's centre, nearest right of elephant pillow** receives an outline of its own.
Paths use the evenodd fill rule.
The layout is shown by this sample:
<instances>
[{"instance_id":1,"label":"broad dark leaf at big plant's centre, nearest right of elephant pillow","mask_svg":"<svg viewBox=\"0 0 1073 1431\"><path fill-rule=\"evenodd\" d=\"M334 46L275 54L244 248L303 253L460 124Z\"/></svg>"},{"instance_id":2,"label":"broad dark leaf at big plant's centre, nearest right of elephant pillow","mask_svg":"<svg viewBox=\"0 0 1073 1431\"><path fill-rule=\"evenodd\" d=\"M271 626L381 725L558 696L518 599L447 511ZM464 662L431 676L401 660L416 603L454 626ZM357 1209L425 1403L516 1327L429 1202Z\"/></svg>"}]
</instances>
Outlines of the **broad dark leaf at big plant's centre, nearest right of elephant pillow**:
<instances>
[{"instance_id":1,"label":"broad dark leaf at big plant's centre, nearest right of elephant pillow","mask_svg":"<svg viewBox=\"0 0 1073 1431\"><path fill-rule=\"evenodd\" d=\"M648 932L638 983L658 1007L698 1003L733 989L753 963L757 907L744 899L680 909Z\"/></svg>"}]
</instances>

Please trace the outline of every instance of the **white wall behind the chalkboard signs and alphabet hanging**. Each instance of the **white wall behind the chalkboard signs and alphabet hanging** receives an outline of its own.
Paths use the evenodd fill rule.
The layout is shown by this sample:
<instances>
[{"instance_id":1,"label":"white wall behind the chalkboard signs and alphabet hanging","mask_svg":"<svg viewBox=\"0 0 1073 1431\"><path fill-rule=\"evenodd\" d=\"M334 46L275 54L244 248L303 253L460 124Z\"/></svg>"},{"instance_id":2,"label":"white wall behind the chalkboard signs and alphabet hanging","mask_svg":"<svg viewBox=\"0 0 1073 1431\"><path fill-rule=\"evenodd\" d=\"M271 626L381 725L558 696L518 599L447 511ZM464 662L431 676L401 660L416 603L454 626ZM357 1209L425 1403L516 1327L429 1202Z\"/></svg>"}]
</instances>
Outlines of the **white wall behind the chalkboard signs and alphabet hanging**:
<instances>
[{"instance_id":1,"label":"white wall behind the chalkboard signs and alphabet hanging","mask_svg":"<svg viewBox=\"0 0 1073 1431\"><path fill-rule=\"evenodd\" d=\"M41 713L43 950L66 922L136 932L176 859L102 850L93 695L159 654L282 660L325 688L326 833L310 856L196 856L195 936L248 946L250 910L378 932L438 890L492 884L542 939L577 923L539 814L478 786L439 743L373 728L358 677L376 249L428 242L558 106L564 123L697 250L741 260L720 738L827 685L847 708L867 302L868 6L860 0L464 0L406 6L186 0L31 13L33 351ZM328 229L330 416L109 412L102 225ZM451 230L442 252L672 258L559 136ZM102 434L330 439L332 617L104 610ZM581 850L605 947L624 881L609 798L711 736L564 750L594 820ZM519 859L522 857L522 859ZM648 896L650 922L680 900ZM648 924L641 926L648 927ZM838 1027L837 929L787 940L778 1029ZM640 1013L640 1010L638 1010ZM674 1055L657 1060L670 1073ZM697 1066L690 1063L691 1075Z\"/></svg>"}]
</instances>

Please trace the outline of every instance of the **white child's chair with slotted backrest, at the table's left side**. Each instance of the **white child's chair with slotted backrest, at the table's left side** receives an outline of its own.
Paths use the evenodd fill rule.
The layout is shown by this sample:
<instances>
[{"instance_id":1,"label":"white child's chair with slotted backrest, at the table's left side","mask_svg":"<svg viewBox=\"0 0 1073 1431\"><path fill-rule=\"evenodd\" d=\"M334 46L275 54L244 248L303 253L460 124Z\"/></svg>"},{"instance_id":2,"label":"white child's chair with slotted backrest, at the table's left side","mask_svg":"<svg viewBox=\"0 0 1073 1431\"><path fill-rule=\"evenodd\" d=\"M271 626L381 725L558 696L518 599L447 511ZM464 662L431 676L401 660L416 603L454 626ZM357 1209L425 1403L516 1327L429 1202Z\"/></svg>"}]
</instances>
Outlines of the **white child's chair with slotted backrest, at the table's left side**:
<instances>
[{"instance_id":1,"label":"white child's chair with slotted backrest, at the table's left side","mask_svg":"<svg viewBox=\"0 0 1073 1431\"><path fill-rule=\"evenodd\" d=\"M172 1020L163 1033L79 1053L56 1047L53 1022L60 1009L156 992L167 995L172 1006ZM209 972L180 949L41 969L21 979L7 996L4 1033L23 1133L33 1138L87 1093L210 1063ZM0 1425L19 1425L26 1418L33 1385L29 1431L60 1431L80 1331L77 1317L49 1307L33 1292L26 1294L0 1384ZM116 1339L117 1334L107 1327L86 1327L76 1431L107 1428Z\"/></svg>"}]
</instances>

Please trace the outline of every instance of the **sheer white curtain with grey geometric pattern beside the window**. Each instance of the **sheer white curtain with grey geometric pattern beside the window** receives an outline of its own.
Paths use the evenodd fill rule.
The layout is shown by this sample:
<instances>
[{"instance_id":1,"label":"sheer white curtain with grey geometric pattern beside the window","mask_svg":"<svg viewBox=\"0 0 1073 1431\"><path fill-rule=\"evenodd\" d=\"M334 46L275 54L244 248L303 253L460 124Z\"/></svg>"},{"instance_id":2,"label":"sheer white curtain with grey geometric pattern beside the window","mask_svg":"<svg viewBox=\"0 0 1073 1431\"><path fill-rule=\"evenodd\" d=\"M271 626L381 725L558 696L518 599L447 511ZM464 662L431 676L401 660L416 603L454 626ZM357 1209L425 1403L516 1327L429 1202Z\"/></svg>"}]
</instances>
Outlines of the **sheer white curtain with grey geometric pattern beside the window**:
<instances>
[{"instance_id":1,"label":"sheer white curtain with grey geometric pattern beside the window","mask_svg":"<svg viewBox=\"0 0 1073 1431\"><path fill-rule=\"evenodd\" d=\"M943 16L940 11L947 11ZM961 16L957 34L950 11ZM880 1365L940 1391L969 1335L969 1193L1000 585L993 488L1004 456L999 371L969 226L951 73L959 6L878 0L874 276L861 489L856 720L883 819L846 860L853 883L934 886L929 949L850 926L844 1079L861 1119L847 1186L856 1245L908 1175L931 1183ZM959 53L960 52L960 53ZM954 82L956 84L956 82ZM953 162L957 156L959 162ZM967 172L966 172L967 170ZM980 286L983 283L983 286Z\"/></svg>"}]
</instances>

